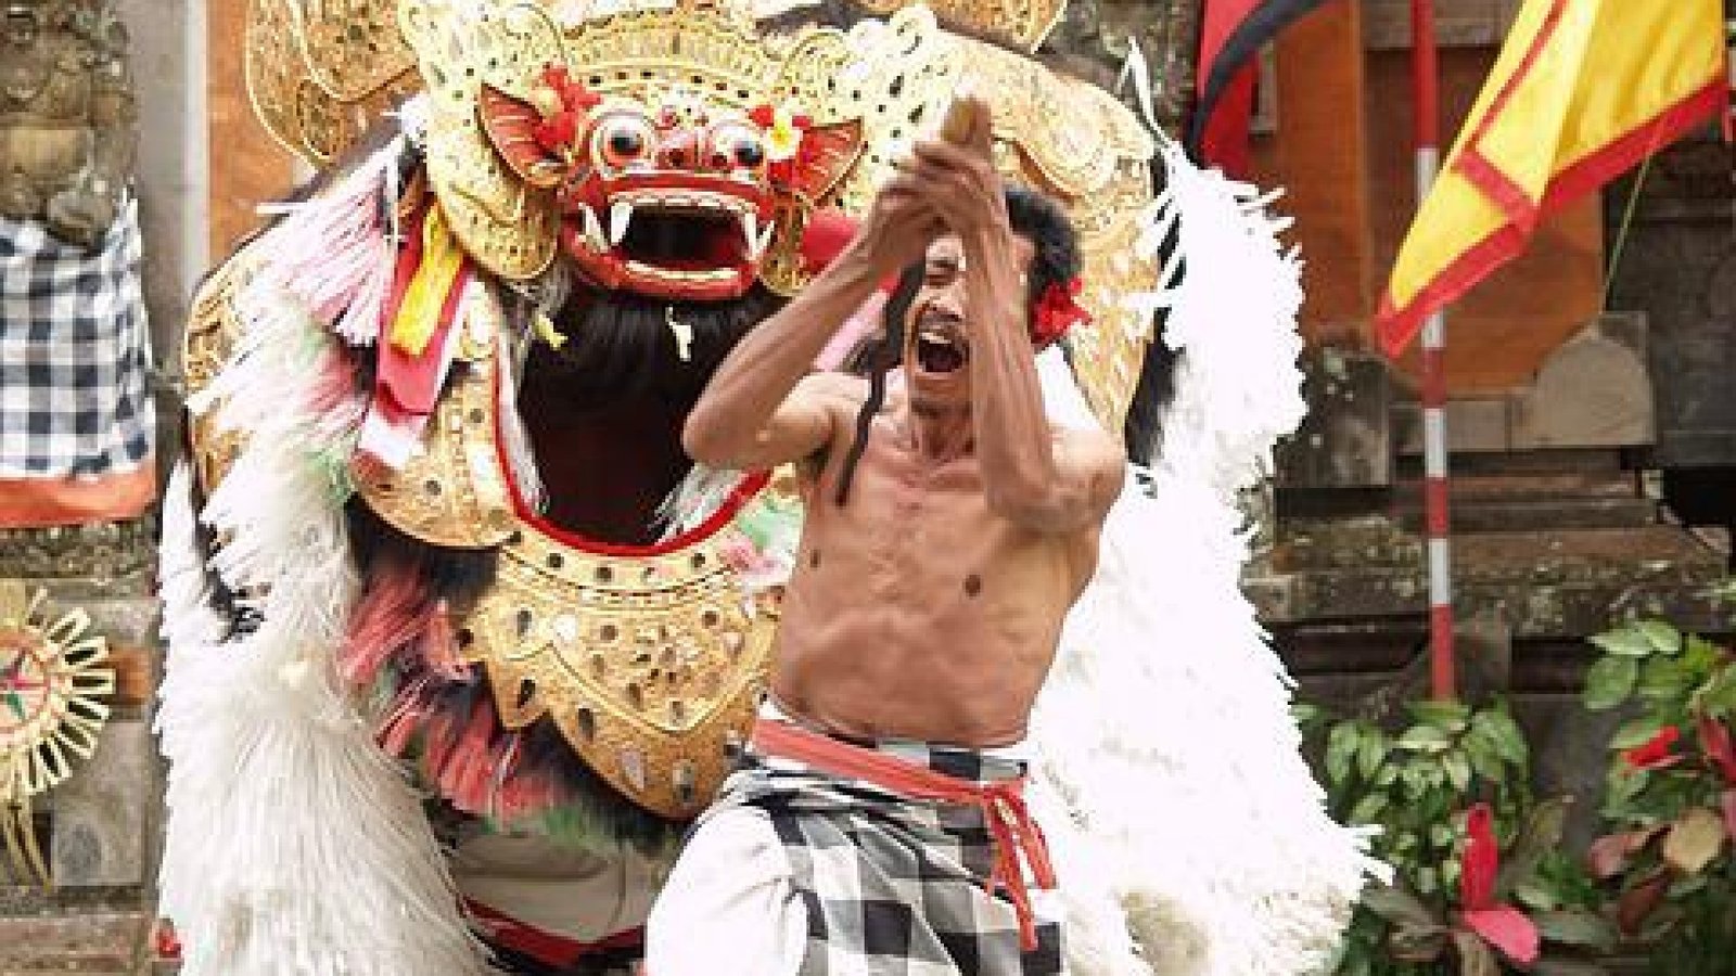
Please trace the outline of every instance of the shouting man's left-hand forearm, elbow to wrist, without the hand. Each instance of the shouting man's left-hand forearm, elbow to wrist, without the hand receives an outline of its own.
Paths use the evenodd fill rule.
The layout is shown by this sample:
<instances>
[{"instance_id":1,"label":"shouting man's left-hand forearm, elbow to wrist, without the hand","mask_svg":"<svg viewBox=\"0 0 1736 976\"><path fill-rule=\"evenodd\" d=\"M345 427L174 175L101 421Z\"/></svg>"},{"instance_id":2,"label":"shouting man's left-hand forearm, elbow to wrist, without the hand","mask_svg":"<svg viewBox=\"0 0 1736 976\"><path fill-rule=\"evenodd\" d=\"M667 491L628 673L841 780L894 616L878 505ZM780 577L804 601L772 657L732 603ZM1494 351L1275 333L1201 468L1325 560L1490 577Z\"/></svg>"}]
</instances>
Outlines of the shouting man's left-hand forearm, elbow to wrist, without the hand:
<instances>
[{"instance_id":1,"label":"shouting man's left-hand forearm, elbow to wrist, without the hand","mask_svg":"<svg viewBox=\"0 0 1736 976\"><path fill-rule=\"evenodd\" d=\"M687 415L687 450L729 457L750 446L877 285L871 264L852 243L778 314L748 330Z\"/></svg>"}]
</instances>

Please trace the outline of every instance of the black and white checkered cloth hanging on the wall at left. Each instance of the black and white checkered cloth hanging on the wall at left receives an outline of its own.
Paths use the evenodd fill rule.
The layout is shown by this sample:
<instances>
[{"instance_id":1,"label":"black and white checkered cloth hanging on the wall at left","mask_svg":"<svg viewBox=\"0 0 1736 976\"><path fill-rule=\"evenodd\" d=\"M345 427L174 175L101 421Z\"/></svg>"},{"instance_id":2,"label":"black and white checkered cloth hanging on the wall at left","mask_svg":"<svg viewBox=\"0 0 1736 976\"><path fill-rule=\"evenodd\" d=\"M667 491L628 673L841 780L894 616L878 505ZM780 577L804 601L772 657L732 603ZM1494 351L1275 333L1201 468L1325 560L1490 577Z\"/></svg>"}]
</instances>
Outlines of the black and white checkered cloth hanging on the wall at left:
<instances>
[{"instance_id":1,"label":"black and white checkered cloth hanging on the wall at left","mask_svg":"<svg viewBox=\"0 0 1736 976\"><path fill-rule=\"evenodd\" d=\"M0 219L0 478L90 478L151 457L139 207L95 248Z\"/></svg>"}]
</instances>

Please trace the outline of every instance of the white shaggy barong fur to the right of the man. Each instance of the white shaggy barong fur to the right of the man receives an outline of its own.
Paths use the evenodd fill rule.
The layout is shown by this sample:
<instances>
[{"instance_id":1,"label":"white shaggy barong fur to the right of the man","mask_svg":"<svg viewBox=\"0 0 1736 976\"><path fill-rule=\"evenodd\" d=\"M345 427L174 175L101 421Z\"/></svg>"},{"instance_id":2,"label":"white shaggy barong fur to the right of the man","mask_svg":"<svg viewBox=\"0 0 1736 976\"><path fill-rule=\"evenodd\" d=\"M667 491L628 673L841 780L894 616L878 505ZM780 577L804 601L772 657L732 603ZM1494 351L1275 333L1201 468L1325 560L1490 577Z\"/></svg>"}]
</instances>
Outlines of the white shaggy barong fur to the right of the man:
<instances>
[{"instance_id":1,"label":"white shaggy barong fur to the right of the man","mask_svg":"<svg viewBox=\"0 0 1736 976\"><path fill-rule=\"evenodd\" d=\"M1330 964L1375 870L1366 837L1325 813L1290 681L1241 592L1238 495L1304 413L1300 269L1252 188L1194 168L1179 148L1163 158L1168 188L1141 247L1149 257L1179 228L1186 273L1135 300L1170 309L1175 396L1156 465L1109 514L1097 577L1031 721L1040 780L1071 811L1050 830L1062 887L1108 879L1132 936L1069 938L1069 966L1300 976ZM1052 413L1087 422L1073 382L1043 372ZM1108 924L1090 893L1069 893L1069 913L1097 933Z\"/></svg>"}]
</instances>

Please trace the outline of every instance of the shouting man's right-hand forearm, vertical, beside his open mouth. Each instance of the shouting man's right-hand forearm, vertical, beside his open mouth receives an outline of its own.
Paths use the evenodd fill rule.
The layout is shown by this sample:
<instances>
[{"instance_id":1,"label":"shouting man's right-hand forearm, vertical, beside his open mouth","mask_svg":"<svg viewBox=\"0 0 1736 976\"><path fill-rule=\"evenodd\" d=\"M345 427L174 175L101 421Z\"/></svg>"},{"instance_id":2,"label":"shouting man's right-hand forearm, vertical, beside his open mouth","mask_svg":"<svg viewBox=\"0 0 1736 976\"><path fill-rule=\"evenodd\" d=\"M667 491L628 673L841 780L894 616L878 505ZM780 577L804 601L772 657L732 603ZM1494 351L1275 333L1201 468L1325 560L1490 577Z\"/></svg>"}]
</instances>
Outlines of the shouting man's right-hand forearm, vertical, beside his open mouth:
<instances>
[{"instance_id":1,"label":"shouting man's right-hand forearm, vertical, beside his open mouth","mask_svg":"<svg viewBox=\"0 0 1736 976\"><path fill-rule=\"evenodd\" d=\"M1005 229L970 234L965 295L970 335L970 408L983 486L996 509L1038 505L1055 483L1054 445L1026 328L1026 288Z\"/></svg>"}]
</instances>

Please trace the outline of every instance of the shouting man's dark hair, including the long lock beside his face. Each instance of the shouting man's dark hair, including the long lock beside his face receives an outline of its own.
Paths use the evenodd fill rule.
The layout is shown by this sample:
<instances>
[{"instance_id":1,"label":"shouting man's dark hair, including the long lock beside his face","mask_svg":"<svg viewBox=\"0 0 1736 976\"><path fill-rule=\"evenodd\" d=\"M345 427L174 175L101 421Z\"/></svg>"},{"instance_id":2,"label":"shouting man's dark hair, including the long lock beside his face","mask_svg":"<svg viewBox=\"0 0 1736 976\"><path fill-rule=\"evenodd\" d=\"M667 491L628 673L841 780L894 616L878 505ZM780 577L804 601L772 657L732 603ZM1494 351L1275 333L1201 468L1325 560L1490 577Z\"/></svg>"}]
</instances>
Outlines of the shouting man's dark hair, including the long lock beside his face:
<instances>
[{"instance_id":1,"label":"shouting man's dark hair, including the long lock beside his face","mask_svg":"<svg viewBox=\"0 0 1736 976\"><path fill-rule=\"evenodd\" d=\"M1061 203L1023 186L1005 188L1007 224L1012 233L1031 241L1031 264L1024 274L1024 314L1029 328L1031 311L1038 299L1052 285L1062 288L1080 276L1080 240L1073 229L1073 221ZM851 481L856 478L856 464L861 462L868 448L868 427L875 413L885 403L885 373L899 363L904 354L904 320L910 316L910 304L922 290L927 260L917 260L898 276L898 287L887 295L880 313L880 339L859 349L845 368L868 375L868 399L856 415L856 438L851 441L851 453L844 458L844 471L838 476L837 502L842 505L851 497Z\"/></svg>"}]
</instances>

